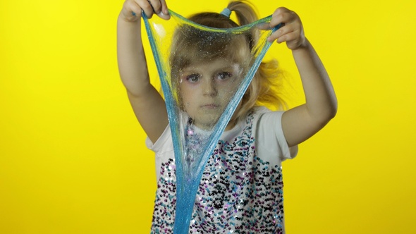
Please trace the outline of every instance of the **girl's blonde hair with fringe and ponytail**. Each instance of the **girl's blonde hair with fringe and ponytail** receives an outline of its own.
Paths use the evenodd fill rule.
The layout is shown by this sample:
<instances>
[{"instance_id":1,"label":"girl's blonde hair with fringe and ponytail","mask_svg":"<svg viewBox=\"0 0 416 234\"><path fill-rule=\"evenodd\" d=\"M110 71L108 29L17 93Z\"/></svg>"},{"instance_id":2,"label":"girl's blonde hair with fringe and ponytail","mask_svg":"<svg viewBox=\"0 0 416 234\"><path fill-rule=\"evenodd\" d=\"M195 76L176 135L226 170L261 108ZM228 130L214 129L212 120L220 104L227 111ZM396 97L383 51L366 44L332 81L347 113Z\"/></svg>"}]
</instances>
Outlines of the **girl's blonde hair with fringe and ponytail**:
<instances>
[{"instance_id":1,"label":"girl's blonde hair with fringe and ponytail","mask_svg":"<svg viewBox=\"0 0 416 234\"><path fill-rule=\"evenodd\" d=\"M254 6L248 1L232 0L227 8L235 13L238 23L235 23L220 13L211 12L197 13L188 19L200 25L216 28L238 27L258 20ZM257 43L258 35L256 35L256 31L250 31L241 35L241 37L235 37L235 35L233 37L231 35L224 36L224 33L222 35L215 35L215 33L212 35L212 33L197 30L188 25L181 26L175 32L170 57L172 77L178 77L177 75L181 69L188 66L195 59L204 61L204 59L209 60L220 57L232 59L237 62L251 60L247 59L246 49L248 49L248 56L250 56L250 51ZM185 35L187 38L185 38ZM202 40L201 42L201 40L192 39L195 37L210 37L210 39L209 42L208 40L205 42ZM195 51L201 50L204 51L202 56L200 56L201 53L195 53ZM236 51L238 53L235 53ZM196 54L198 54L198 57L195 56ZM240 110L238 113L235 113L235 118L231 121L242 120L255 106L285 109L286 103L279 95L281 91L281 78L282 74L276 59L262 62L242 98ZM175 85L175 82L177 82L176 79L173 79L173 85Z\"/></svg>"}]
</instances>

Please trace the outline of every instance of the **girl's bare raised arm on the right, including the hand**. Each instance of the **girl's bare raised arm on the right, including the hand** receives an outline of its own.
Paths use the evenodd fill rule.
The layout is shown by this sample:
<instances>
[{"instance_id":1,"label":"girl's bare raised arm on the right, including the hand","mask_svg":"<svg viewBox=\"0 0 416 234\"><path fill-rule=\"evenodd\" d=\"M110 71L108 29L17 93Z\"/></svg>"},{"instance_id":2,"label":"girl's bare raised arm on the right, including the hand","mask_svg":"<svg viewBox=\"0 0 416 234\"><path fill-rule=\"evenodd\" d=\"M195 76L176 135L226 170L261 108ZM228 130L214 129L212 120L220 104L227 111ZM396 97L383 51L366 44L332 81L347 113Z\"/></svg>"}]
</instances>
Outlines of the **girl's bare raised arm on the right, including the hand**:
<instances>
[{"instance_id":1,"label":"girl's bare raised arm on the right, including the hand","mask_svg":"<svg viewBox=\"0 0 416 234\"><path fill-rule=\"evenodd\" d=\"M287 8L278 8L270 26L279 23L283 23L283 27L271 35L269 41L286 42L292 50L306 99L305 104L286 111L282 116L283 134L289 146L293 146L324 128L336 115L338 106L329 75L306 39L299 16Z\"/></svg>"}]
</instances>

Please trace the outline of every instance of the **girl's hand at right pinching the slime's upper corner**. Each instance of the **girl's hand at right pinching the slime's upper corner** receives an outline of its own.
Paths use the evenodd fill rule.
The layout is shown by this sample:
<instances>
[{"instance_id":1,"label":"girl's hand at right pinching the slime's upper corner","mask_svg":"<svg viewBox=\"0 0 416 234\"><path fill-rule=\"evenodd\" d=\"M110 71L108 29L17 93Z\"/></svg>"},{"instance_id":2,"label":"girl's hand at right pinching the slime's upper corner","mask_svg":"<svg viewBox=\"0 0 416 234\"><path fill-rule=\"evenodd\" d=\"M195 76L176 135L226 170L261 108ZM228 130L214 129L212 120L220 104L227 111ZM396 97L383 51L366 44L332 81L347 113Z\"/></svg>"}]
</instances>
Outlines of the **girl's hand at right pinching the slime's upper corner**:
<instances>
[{"instance_id":1,"label":"girl's hand at right pinching the slime's upper corner","mask_svg":"<svg viewBox=\"0 0 416 234\"><path fill-rule=\"evenodd\" d=\"M275 27L279 23L282 24L282 27L270 35L267 39L269 42L273 42L276 39L277 43L286 42L286 45L291 50L305 47L306 38L298 14L290 11L288 8L277 8L271 16L270 27Z\"/></svg>"}]
</instances>

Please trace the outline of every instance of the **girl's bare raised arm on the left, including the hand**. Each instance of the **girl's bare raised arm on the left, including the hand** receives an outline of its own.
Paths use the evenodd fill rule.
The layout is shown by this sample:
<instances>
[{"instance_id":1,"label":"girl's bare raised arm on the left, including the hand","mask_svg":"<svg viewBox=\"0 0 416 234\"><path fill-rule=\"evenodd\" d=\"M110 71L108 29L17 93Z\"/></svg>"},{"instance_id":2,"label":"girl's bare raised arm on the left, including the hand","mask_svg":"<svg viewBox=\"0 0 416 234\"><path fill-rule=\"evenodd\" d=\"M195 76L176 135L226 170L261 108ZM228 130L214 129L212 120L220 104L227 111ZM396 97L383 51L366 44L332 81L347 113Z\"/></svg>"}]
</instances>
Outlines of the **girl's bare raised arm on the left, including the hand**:
<instances>
[{"instance_id":1,"label":"girl's bare raised arm on the left, including the hand","mask_svg":"<svg viewBox=\"0 0 416 234\"><path fill-rule=\"evenodd\" d=\"M156 142L168 125L168 116L164 99L149 81L141 38L142 10L149 18L154 12L166 20L170 18L164 0L125 1L117 20L118 70L137 120L149 139Z\"/></svg>"}]
</instances>

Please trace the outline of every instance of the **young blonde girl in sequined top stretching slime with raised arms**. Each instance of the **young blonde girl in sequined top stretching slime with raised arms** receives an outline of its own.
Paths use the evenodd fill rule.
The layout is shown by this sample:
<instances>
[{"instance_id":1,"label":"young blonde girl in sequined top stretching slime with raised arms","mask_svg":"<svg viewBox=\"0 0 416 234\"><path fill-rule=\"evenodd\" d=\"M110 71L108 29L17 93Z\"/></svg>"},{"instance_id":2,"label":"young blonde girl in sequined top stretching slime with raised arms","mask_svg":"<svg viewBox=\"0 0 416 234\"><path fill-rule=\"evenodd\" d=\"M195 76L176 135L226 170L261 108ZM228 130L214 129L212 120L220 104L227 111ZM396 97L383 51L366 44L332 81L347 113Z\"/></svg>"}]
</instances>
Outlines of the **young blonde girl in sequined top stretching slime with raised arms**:
<instances>
[{"instance_id":1,"label":"young blonde girl in sequined top stretching slime with raised arms","mask_svg":"<svg viewBox=\"0 0 416 234\"><path fill-rule=\"evenodd\" d=\"M190 20L227 28L257 20L245 1L233 0L227 9L236 14L238 24L228 13L200 13ZM152 233L172 233L176 204L173 145L164 100L149 82L140 36L142 11L149 18L153 14L170 18L164 0L126 0L118 17L118 66L135 115L148 136L147 147L156 153L158 189ZM192 233L284 233L281 161L293 158L297 145L336 114L331 81L304 35L300 18L287 8L277 8L269 27L280 23L283 27L268 40L286 42L292 51L306 102L288 111L259 106L279 107L282 103L269 88L277 79L276 63L262 63L204 169L190 222ZM245 69L238 54L244 57L253 38L255 35L249 35L228 47L233 59L224 54L203 63L192 56L188 61L171 56L171 75L178 78L181 109L197 128L211 128L216 121L216 111L224 105L221 100L228 98L231 81ZM175 47L183 51L186 47L181 37L175 40ZM192 48L188 49L179 56L192 54Z\"/></svg>"}]
</instances>

